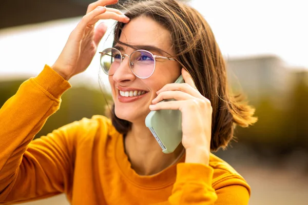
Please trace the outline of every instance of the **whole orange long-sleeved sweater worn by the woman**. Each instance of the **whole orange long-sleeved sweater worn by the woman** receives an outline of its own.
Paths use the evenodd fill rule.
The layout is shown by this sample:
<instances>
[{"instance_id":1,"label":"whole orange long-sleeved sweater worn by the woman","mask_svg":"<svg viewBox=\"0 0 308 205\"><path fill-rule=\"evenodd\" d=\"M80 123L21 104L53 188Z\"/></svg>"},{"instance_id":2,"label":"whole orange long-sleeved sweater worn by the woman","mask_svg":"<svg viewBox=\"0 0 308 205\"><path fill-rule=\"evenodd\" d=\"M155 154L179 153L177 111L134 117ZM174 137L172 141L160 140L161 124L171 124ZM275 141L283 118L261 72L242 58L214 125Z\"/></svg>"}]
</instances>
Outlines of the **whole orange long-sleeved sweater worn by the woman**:
<instances>
[{"instance_id":1,"label":"whole orange long-sleeved sweater worn by the woman","mask_svg":"<svg viewBox=\"0 0 308 205\"><path fill-rule=\"evenodd\" d=\"M68 81L45 66L0 110L0 204L65 193L72 204L248 204L250 188L226 162L184 157L162 172L139 176L109 119L94 116L32 141L59 109Z\"/></svg>"}]
</instances>

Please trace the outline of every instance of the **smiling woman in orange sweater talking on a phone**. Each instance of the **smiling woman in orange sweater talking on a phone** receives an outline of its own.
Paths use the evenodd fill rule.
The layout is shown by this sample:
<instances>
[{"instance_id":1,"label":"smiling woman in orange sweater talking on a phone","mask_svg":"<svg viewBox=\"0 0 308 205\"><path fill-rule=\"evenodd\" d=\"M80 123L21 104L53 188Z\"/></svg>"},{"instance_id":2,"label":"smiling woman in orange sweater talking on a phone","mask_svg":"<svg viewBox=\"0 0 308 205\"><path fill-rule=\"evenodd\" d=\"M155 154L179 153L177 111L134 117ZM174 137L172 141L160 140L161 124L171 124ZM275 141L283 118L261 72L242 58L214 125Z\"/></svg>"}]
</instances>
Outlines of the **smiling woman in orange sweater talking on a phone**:
<instances>
[{"instance_id":1,"label":"smiling woman in orange sweater talking on a phone","mask_svg":"<svg viewBox=\"0 0 308 205\"><path fill-rule=\"evenodd\" d=\"M54 65L1 108L0 203L65 193L72 204L247 204L245 180L210 151L227 146L235 125L256 118L229 95L224 60L204 18L176 0L133 4L126 15L105 7L114 3L90 4ZM67 80L90 64L106 31L94 24L107 18L119 21L112 54L118 65L102 65L114 100L111 120L93 116L32 141L59 109ZM137 50L149 56L132 57ZM138 70L136 60L155 66ZM180 74L185 84L173 84ZM162 153L144 124L150 110L161 109L182 112L182 143L171 154Z\"/></svg>"}]
</instances>

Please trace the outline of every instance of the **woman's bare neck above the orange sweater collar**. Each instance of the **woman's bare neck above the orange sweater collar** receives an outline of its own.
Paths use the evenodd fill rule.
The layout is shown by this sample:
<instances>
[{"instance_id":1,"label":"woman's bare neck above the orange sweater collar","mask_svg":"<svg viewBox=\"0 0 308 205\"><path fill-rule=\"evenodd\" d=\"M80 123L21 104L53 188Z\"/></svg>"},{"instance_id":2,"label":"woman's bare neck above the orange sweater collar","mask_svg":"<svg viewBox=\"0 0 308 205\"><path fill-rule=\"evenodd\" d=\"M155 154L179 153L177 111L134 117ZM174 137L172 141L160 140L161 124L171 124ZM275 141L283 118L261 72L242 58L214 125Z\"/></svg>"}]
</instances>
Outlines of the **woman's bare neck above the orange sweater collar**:
<instances>
[{"instance_id":1,"label":"woman's bare neck above the orange sweater collar","mask_svg":"<svg viewBox=\"0 0 308 205\"><path fill-rule=\"evenodd\" d=\"M164 154L144 122L139 125L132 124L125 137L124 147L132 169L139 175L161 172L176 162L184 150L180 145L173 153Z\"/></svg>"}]
</instances>

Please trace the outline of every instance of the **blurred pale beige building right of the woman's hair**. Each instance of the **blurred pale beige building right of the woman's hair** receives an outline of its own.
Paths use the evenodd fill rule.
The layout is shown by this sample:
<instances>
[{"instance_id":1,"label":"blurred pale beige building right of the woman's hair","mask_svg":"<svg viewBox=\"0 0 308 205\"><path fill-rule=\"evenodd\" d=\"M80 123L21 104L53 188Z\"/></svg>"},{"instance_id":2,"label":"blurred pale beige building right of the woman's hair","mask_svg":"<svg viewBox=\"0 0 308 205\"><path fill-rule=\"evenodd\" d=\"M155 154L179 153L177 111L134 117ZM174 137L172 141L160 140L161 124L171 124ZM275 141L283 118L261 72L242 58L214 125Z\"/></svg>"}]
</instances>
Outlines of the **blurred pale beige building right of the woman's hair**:
<instances>
[{"instance_id":1,"label":"blurred pale beige building right of the woman's hair","mask_svg":"<svg viewBox=\"0 0 308 205\"><path fill-rule=\"evenodd\" d=\"M290 92L291 69L275 55L227 59L229 85L235 92L243 92L252 103L266 97L277 101Z\"/></svg>"}]
</instances>

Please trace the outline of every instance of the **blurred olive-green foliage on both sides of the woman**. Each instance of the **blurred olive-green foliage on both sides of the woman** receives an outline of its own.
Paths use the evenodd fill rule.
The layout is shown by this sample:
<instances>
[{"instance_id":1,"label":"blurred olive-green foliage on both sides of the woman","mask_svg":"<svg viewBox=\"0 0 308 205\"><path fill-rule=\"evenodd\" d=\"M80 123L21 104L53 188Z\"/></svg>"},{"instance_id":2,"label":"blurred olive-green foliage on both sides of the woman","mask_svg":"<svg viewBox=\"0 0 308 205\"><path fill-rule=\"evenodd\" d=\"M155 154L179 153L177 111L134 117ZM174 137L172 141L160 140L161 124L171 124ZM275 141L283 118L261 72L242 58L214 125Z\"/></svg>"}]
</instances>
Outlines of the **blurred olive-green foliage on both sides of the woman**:
<instances>
[{"instance_id":1,"label":"blurred olive-green foliage on both sides of the woman","mask_svg":"<svg viewBox=\"0 0 308 205\"><path fill-rule=\"evenodd\" d=\"M250 128L237 128L235 135L238 141L253 148L270 149L279 154L281 150L292 150L298 147L308 149L308 85L305 75L298 75L296 84L290 93L279 100L275 93L263 96L255 105L256 125ZM0 106L14 95L22 80L0 82ZM72 87L62 96L59 111L50 116L37 137L46 135L54 129L69 124L83 117L104 115L106 101L111 101L110 94L87 87ZM282 109L283 108L283 109Z\"/></svg>"}]
</instances>

